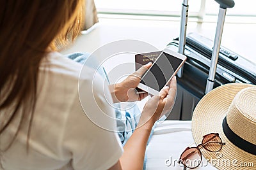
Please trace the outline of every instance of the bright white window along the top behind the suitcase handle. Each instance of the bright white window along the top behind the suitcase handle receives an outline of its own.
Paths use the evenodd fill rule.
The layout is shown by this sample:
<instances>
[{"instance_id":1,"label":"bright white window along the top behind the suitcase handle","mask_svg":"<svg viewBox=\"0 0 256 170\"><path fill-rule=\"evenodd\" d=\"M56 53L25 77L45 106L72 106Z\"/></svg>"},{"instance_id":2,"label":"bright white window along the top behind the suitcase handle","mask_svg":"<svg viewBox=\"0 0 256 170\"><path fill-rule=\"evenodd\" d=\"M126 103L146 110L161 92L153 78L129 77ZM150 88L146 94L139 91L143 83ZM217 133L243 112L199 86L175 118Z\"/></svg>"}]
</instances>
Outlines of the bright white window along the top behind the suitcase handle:
<instances>
[{"instance_id":1,"label":"bright white window along the top behind the suitcase handle","mask_svg":"<svg viewBox=\"0 0 256 170\"><path fill-rule=\"evenodd\" d=\"M99 14L180 17L182 2L183 0L95 0L95 5ZM233 17L231 22L256 24L253 5L255 0L236 0L235 3L234 8L227 10L227 17ZM219 5L214 0L189 0L190 18L211 21L211 17L218 15L218 9Z\"/></svg>"}]
</instances>

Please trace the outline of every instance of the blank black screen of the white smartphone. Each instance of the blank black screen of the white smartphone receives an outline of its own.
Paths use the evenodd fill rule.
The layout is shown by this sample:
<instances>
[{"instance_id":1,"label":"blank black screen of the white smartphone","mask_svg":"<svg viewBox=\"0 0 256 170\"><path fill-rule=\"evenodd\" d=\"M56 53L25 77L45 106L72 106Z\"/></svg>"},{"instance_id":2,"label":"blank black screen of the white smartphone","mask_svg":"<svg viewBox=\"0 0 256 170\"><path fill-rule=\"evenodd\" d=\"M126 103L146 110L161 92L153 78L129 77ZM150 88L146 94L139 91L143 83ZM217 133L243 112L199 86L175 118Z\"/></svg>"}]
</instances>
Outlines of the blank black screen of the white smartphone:
<instances>
[{"instance_id":1,"label":"blank black screen of the white smartphone","mask_svg":"<svg viewBox=\"0 0 256 170\"><path fill-rule=\"evenodd\" d=\"M159 91L163 89L181 63L182 59L163 52L153 66L142 76L141 83Z\"/></svg>"}]
</instances>

